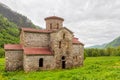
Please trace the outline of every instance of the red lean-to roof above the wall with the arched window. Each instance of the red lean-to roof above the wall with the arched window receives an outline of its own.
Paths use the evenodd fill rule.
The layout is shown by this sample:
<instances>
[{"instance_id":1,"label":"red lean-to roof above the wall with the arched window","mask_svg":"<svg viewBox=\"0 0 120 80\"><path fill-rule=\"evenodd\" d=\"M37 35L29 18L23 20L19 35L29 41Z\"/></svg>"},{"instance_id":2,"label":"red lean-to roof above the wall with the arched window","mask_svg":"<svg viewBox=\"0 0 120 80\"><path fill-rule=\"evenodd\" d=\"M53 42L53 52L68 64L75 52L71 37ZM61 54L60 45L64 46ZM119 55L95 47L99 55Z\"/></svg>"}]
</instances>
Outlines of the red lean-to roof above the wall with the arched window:
<instances>
[{"instance_id":1,"label":"red lean-to roof above the wall with the arched window","mask_svg":"<svg viewBox=\"0 0 120 80\"><path fill-rule=\"evenodd\" d=\"M49 48L24 48L24 54L51 55L52 52Z\"/></svg>"}]
</instances>

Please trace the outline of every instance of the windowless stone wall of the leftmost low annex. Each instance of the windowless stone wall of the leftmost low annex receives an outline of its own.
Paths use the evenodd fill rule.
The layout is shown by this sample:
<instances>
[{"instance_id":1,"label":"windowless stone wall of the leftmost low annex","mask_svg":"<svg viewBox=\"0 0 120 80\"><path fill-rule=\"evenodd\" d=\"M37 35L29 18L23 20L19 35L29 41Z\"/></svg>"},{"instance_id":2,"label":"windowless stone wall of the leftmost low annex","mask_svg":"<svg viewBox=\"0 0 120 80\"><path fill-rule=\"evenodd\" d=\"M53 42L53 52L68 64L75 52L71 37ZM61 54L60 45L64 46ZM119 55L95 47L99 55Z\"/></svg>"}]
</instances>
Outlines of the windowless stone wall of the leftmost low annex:
<instances>
[{"instance_id":1,"label":"windowless stone wall of the leftmost low annex","mask_svg":"<svg viewBox=\"0 0 120 80\"><path fill-rule=\"evenodd\" d=\"M6 70L14 71L23 69L23 51L5 51Z\"/></svg>"}]
</instances>

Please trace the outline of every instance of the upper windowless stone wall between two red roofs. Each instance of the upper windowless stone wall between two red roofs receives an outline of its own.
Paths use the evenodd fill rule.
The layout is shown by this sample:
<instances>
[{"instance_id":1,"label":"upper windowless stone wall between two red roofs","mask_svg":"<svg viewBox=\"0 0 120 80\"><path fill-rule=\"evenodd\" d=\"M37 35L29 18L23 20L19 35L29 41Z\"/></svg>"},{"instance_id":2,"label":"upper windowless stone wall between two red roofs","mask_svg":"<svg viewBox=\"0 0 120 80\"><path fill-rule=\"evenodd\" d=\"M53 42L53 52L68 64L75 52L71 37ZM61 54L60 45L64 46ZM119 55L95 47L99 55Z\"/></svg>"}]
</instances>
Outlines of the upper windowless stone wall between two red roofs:
<instances>
[{"instance_id":1,"label":"upper windowless stone wall between two red roofs","mask_svg":"<svg viewBox=\"0 0 120 80\"><path fill-rule=\"evenodd\" d=\"M49 41L49 34L24 32L25 47L48 47Z\"/></svg>"}]
</instances>

